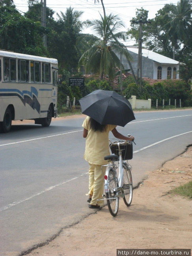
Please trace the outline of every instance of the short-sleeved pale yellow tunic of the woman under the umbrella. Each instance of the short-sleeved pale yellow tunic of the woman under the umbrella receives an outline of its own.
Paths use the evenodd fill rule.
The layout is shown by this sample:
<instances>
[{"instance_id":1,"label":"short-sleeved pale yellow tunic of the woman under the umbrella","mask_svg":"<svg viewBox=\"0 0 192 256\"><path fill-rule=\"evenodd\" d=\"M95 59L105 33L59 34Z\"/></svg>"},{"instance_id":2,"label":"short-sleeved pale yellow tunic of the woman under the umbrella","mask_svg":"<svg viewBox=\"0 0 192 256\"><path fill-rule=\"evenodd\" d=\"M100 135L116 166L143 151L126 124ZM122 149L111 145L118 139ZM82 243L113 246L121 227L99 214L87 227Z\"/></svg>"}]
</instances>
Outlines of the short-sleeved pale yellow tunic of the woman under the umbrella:
<instances>
[{"instance_id":1,"label":"short-sleeved pale yellow tunic of the woman under the umbrella","mask_svg":"<svg viewBox=\"0 0 192 256\"><path fill-rule=\"evenodd\" d=\"M109 155L109 131L112 131L116 125L107 124L104 132L95 132L89 128L90 117L86 117L83 122L83 128L88 130L84 159L90 164L104 165L107 161L104 156Z\"/></svg>"}]
</instances>

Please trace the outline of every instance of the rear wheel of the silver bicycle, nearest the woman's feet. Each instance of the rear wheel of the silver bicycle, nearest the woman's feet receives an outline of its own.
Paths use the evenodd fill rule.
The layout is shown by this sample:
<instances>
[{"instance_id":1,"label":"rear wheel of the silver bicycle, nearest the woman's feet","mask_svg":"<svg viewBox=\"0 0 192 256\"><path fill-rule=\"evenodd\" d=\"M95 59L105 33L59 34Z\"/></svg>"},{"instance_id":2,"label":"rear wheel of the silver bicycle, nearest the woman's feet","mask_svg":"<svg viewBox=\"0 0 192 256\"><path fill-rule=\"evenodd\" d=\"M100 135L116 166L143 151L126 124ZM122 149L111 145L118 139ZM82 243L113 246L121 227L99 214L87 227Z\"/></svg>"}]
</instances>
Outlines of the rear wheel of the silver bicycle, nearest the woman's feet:
<instances>
[{"instance_id":1,"label":"rear wheel of the silver bicycle, nearest the woman's feet","mask_svg":"<svg viewBox=\"0 0 192 256\"><path fill-rule=\"evenodd\" d=\"M116 216L119 209L119 197L116 195L117 178L113 170L108 175L108 192L106 192L107 206L112 216Z\"/></svg>"}]
</instances>

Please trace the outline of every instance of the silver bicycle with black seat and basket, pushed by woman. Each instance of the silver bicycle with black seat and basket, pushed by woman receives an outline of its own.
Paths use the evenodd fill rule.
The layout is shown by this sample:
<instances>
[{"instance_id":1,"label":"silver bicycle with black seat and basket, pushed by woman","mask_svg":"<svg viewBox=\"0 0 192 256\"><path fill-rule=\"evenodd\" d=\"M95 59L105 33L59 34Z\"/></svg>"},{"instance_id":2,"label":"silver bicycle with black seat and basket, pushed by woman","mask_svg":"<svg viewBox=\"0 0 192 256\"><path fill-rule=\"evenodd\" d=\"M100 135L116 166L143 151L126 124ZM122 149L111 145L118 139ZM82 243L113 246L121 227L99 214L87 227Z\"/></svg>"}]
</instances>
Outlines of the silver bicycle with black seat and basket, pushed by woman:
<instances>
[{"instance_id":1,"label":"silver bicycle with black seat and basket, pushed by woman","mask_svg":"<svg viewBox=\"0 0 192 256\"><path fill-rule=\"evenodd\" d=\"M109 141L111 143L109 146L112 154L104 157L104 159L109 162L109 164L104 165L107 167L104 176L105 194L102 199L98 200L107 200L109 212L115 217L119 210L119 198L123 198L124 203L127 206L130 206L132 202L132 167L128 164L127 160L130 160L133 157L133 145L132 141L118 140L116 142L112 142L110 139ZM118 177L115 161L119 161Z\"/></svg>"}]
</instances>

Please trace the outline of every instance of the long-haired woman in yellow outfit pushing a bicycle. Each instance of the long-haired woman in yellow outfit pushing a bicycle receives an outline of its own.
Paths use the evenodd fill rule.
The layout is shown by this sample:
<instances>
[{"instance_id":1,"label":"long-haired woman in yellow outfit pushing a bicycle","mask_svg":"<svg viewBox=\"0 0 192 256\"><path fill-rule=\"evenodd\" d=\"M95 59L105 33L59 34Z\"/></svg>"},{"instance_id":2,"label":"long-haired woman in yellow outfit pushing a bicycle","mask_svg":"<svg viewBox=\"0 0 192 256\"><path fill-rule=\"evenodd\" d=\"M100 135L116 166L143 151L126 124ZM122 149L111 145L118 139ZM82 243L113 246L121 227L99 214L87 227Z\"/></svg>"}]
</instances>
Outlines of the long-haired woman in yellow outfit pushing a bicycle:
<instances>
[{"instance_id":1,"label":"long-haired woman in yellow outfit pushing a bicycle","mask_svg":"<svg viewBox=\"0 0 192 256\"><path fill-rule=\"evenodd\" d=\"M126 137L117 132L116 125L99 124L96 120L86 117L83 122L83 137L86 138L84 159L89 163L89 208L98 208L102 206L104 192L104 175L107 164L104 156L109 155L109 131L118 139L133 141L134 137Z\"/></svg>"}]
</instances>

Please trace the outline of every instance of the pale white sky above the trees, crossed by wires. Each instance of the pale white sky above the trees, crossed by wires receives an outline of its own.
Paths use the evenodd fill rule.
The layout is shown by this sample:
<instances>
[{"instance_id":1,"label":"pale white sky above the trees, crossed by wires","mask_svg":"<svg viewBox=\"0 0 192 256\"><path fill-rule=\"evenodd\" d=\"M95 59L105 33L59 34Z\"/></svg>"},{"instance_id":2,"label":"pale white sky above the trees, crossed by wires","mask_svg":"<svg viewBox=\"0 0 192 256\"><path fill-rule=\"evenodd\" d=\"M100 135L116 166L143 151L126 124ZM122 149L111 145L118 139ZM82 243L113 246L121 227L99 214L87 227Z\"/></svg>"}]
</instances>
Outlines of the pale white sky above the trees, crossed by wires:
<instances>
[{"instance_id":1,"label":"pale white sky above the trees, crossed by wires","mask_svg":"<svg viewBox=\"0 0 192 256\"><path fill-rule=\"evenodd\" d=\"M40 0L39 0L40 1ZM106 15L113 13L123 21L125 28L122 31L126 31L130 28L130 20L136 16L137 8L143 7L148 10L148 19L155 17L155 14L159 9L162 9L165 4L177 5L178 0L104 0ZM16 8L22 12L28 10L27 0L14 0ZM83 11L81 20L86 21L87 19L100 19L100 13L103 15L102 4L94 4L94 0L46 0L47 7L55 11L54 18L57 19L56 13L60 15L60 11L65 13L66 8L70 6L74 10ZM85 29L83 33L92 34L92 31ZM134 41L127 41L126 45L133 45Z\"/></svg>"}]
</instances>

